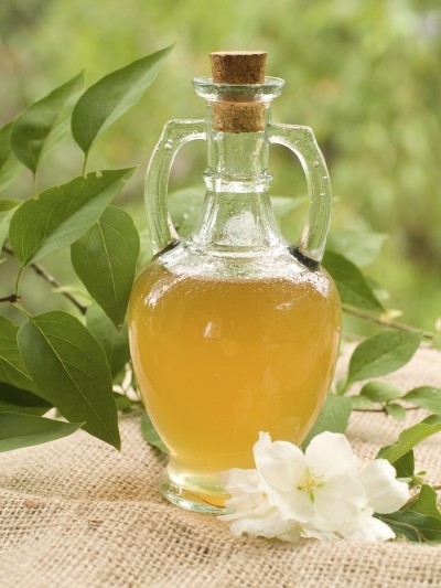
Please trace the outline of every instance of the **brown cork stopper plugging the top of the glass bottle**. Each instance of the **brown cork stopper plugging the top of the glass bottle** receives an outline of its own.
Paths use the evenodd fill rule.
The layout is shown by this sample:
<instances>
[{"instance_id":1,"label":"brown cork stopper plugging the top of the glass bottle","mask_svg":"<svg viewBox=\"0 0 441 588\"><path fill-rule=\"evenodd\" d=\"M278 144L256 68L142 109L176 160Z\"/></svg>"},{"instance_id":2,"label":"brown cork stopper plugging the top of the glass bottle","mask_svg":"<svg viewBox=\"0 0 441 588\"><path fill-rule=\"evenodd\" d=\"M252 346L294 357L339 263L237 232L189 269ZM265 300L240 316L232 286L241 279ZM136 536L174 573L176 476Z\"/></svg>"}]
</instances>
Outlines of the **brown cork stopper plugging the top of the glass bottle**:
<instances>
[{"instance_id":1,"label":"brown cork stopper plugging the top of the glass bottle","mask_svg":"<svg viewBox=\"0 0 441 588\"><path fill-rule=\"evenodd\" d=\"M263 84L267 53L218 51L209 54L215 84ZM265 105L250 97L223 96L213 105L213 128L222 132L257 132L265 128Z\"/></svg>"}]
</instances>

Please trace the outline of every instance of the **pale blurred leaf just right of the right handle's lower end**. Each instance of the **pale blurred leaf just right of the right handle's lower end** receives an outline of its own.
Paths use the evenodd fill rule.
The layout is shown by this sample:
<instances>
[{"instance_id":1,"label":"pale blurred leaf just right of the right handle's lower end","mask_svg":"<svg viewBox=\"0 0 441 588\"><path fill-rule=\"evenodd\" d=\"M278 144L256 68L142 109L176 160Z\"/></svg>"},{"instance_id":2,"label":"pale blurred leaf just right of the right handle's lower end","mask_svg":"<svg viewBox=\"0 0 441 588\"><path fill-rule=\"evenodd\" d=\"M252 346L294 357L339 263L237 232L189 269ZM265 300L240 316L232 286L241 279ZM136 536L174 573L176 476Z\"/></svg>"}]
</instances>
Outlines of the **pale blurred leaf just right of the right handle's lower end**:
<instances>
[{"instance_id":1,"label":"pale blurred leaf just right of the right handle's lower end","mask_svg":"<svg viewBox=\"0 0 441 588\"><path fill-rule=\"evenodd\" d=\"M376 259L387 238L383 233L341 228L331 231L326 243L331 250L344 255L356 266L364 267Z\"/></svg>"}]
</instances>

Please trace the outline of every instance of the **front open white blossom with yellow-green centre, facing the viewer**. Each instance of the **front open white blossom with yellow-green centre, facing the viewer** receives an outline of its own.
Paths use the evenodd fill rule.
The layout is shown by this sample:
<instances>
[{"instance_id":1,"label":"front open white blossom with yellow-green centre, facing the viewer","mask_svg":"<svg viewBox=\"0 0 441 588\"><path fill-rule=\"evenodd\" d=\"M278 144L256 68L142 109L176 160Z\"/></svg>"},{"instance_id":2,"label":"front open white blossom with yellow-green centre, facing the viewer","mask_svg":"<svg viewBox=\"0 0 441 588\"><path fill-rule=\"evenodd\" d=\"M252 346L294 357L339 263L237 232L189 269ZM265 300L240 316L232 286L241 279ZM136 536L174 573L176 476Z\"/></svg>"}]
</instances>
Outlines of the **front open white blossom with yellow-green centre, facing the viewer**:
<instances>
[{"instance_id":1,"label":"front open white blossom with yellow-green centre, facing the viewer","mask_svg":"<svg viewBox=\"0 0 441 588\"><path fill-rule=\"evenodd\" d=\"M287 441L260 434L255 445L257 471L283 518L320 531L345 533L366 505L358 462L344 435L323 432L305 453Z\"/></svg>"}]
</instances>

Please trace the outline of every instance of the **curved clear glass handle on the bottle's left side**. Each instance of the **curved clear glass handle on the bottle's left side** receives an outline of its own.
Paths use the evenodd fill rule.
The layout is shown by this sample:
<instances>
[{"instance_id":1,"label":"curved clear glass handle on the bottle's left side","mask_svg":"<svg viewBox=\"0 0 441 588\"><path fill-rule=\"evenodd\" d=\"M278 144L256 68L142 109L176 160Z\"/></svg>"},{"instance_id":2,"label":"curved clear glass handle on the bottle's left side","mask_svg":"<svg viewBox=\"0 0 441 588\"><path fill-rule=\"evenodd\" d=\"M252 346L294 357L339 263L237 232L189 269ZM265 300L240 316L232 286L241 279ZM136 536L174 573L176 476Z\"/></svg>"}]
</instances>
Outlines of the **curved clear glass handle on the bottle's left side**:
<instances>
[{"instance_id":1,"label":"curved clear glass handle on the bottle's left side","mask_svg":"<svg viewBox=\"0 0 441 588\"><path fill-rule=\"evenodd\" d=\"M150 159L146 177L146 212L153 253L179 239L168 210L169 175L181 147L197 139L206 140L205 120L169 120Z\"/></svg>"}]
</instances>

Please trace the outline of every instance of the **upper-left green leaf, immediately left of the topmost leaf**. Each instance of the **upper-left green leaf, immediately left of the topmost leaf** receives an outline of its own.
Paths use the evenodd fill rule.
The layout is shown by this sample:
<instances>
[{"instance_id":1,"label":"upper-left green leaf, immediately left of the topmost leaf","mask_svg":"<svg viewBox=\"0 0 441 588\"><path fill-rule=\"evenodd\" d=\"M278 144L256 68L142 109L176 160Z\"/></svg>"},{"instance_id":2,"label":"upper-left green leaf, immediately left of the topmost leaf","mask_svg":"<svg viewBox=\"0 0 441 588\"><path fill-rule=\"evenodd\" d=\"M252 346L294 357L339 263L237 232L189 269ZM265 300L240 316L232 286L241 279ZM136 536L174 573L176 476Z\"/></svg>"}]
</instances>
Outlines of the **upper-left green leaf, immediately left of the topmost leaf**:
<instances>
[{"instance_id":1,"label":"upper-left green leaf, immediately left of the topmost leaf","mask_svg":"<svg viewBox=\"0 0 441 588\"><path fill-rule=\"evenodd\" d=\"M12 129L11 147L17 158L33 173L41 160L69 131L71 110L84 84L80 73L31 105Z\"/></svg>"}]
</instances>

